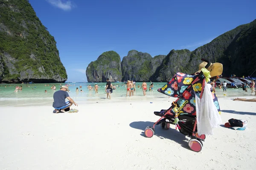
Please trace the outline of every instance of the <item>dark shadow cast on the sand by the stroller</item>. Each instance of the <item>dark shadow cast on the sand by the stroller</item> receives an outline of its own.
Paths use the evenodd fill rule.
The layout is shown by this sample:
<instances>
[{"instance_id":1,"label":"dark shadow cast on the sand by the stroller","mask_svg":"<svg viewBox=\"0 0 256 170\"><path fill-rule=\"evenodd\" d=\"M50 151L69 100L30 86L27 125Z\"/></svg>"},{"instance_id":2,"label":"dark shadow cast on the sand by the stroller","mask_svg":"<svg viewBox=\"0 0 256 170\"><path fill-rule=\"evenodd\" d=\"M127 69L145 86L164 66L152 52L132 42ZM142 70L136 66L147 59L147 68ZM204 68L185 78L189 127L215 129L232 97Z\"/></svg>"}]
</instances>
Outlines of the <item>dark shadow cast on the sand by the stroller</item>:
<instances>
[{"instance_id":1,"label":"dark shadow cast on the sand by the stroller","mask_svg":"<svg viewBox=\"0 0 256 170\"><path fill-rule=\"evenodd\" d=\"M134 129L143 130L140 135L145 137L145 133L144 133L145 128L148 126L153 127L153 124L154 122L150 122L150 121L134 121L130 124L130 127ZM189 149L188 139L185 137L185 135L180 133L178 130L172 129L171 127L169 130L166 130L166 129L162 129L160 125L156 125L154 135L156 135L160 139L170 139L172 141L177 142L182 147Z\"/></svg>"}]
</instances>

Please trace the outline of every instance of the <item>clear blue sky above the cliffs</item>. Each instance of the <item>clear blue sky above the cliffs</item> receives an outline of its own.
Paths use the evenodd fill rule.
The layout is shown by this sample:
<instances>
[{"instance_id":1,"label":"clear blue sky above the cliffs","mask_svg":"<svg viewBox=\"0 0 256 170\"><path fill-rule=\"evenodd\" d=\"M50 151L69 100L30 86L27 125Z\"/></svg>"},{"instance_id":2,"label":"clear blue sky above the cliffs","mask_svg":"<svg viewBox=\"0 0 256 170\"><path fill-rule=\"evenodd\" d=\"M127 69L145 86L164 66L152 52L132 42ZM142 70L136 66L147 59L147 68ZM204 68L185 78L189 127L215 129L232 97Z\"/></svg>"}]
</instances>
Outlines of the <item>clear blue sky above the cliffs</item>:
<instances>
[{"instance_id":1,"label":"clear blue sky above the cliffs","mask_svg":"<svg viewBox=\"0 0 256 170\"><path fill-rule=\"evenodd\" d=\"M29 0L55 37L68 81L106 51L121 61L136 49L152 57L194 50L256 19L256 0Z\"/></svg>"}]
</instances>

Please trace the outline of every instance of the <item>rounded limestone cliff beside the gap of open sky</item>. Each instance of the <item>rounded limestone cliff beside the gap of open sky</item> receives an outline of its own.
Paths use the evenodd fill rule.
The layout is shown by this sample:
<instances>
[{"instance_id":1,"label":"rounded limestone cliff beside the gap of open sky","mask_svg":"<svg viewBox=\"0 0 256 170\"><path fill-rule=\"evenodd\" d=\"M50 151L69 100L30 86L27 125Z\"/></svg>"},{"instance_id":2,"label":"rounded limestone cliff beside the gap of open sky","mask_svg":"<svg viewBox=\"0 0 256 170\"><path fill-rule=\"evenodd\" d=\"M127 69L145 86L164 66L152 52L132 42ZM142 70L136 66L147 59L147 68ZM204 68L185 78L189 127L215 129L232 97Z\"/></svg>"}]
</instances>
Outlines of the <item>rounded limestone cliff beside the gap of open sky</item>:
<instances>
[{"instance_id":1,"label":"rounded limestone cliff beside the gap of open sky","mask_svg":"<svg viewBox=\"0 0 256 170\"><path fill-rule=\"evenodd\" d=\"M88 82L121 81L121 58L114 51L103 52L96 61L91 62L86 69Z\"/></svg>"}]
</instances>

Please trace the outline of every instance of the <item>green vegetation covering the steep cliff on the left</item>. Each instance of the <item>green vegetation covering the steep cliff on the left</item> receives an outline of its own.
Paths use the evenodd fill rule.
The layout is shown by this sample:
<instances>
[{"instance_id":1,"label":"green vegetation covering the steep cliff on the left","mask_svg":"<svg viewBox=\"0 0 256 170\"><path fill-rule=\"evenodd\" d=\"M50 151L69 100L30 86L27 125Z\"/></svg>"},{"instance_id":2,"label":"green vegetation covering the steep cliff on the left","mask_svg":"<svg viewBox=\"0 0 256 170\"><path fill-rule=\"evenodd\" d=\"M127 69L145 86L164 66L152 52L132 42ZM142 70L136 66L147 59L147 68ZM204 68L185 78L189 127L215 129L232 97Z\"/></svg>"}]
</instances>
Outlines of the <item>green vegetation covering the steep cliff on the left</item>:
<instances>
[{"instance_id":1,"label":"green vegetation covering the steep cliff on the left","mask_svg":"<svg viewBox=\"0 0 256 170\"><path fill-rule=\"evenodd\" d=\"M7 61L3 60L6 54L13 58L11 64L15 68L6 66ZM56 41L36 16L28 0L0 1L0 58L1 56L0 66L2 63L4 71L0 72L0 76L3 81L18 79L20 72L26 72L27 69L32 71L30 78L54 79L59 75L62 81L67 79ZM26 73L24 78L29 79L26 78Z\"/></svg>"}]
</instances>

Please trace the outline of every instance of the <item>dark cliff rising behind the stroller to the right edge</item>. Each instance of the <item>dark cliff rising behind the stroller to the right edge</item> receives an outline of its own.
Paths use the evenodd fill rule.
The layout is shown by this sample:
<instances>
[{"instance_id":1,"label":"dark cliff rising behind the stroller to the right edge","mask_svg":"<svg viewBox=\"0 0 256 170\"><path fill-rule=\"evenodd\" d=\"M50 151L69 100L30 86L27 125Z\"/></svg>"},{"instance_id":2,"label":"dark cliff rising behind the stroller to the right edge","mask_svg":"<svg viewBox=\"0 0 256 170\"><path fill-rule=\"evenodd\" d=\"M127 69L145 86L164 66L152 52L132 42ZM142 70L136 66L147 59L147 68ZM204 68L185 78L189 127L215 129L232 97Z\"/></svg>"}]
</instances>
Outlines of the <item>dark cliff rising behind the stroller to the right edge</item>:
<instances>
[{"instance_id":1,"label":"dark cliff rising behind the stroller to the right edge","mask_svg":"<svg viewBox=\"0 0 256 170\"><path fill-rule=\"evenodd\" d=\"M256 20L236 27L195 49L187 63L188 72L198 70L201 58L223 64L223 75L248 76L256 69ZM256 72L252 76L256 77Z\"/></svg>"}]
</instances>

